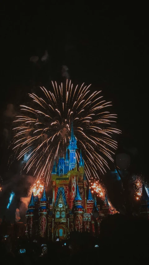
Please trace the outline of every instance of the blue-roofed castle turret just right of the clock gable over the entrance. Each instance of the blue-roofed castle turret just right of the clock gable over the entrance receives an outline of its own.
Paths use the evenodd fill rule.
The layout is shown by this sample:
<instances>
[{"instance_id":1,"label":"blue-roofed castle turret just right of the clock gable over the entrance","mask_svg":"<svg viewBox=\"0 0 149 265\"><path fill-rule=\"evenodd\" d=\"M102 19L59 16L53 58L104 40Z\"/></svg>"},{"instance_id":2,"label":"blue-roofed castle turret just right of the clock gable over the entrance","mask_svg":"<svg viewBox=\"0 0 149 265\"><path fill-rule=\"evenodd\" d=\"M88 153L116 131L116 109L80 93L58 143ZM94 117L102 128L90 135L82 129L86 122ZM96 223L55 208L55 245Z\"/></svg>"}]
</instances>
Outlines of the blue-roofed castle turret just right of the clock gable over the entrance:
<instances>
[{"instance_id":1,"label":"blue-roofed castle turret just right of the clock gable over the entrance","mask_svg":"<svg viewBox=\"0 0 149 265\"><path fill-rule=\"evenodd\" d=\"M76 187L76 195L75 195L75 229L76 231L82 232L83 231L83 213L84 208L82 206L82 199L79 193L79 186L77 184Z\"/></svg>"}]
</instances>

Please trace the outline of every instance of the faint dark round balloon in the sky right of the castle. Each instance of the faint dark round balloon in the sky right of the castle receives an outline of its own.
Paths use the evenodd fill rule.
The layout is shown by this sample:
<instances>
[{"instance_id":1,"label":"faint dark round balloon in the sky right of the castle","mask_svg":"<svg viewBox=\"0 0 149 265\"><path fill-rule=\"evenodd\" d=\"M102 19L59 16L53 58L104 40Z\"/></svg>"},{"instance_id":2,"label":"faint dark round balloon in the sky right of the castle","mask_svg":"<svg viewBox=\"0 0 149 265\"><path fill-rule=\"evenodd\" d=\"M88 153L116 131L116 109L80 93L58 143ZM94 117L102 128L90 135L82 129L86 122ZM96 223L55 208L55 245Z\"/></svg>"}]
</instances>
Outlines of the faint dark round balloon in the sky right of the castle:
<instances>
[{"instance_id":1,"label":"faint dark round balloon in the sky right of the castle","mask_svg":"<svg viewBox=\"0 0 149 265\"><path fill-rule=\"evenodd\" d=\"M116 165L121 170L126 170L130 165L130 156L126 153L116 155Z\"/></svg>"}]
</instances>

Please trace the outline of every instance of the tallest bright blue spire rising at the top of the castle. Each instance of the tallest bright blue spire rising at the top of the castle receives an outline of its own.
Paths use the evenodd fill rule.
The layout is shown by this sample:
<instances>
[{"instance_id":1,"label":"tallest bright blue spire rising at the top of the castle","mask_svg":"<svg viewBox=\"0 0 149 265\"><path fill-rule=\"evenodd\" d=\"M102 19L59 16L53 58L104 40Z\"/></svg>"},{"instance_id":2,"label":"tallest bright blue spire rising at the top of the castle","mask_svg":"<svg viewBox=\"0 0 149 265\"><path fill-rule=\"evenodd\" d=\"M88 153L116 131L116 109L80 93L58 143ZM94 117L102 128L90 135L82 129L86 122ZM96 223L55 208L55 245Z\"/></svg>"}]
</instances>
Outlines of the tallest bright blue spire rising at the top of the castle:
<instances>
[{"instance_id":1,"label":"tallest bright blue spire rising at the top of the castle","mask_svg":"<svg viewBox=\"0 0 149 265\"><path fill-rule=\"evenodd\" d=\"M70 158L69 158L69 170L72 170L74 167L77 166L76 154L75 150L77 149L77 140L75 139L73 123L71 125L71 139L70 144L68 146L70 151Z\"/></svg>"}]
</instances>

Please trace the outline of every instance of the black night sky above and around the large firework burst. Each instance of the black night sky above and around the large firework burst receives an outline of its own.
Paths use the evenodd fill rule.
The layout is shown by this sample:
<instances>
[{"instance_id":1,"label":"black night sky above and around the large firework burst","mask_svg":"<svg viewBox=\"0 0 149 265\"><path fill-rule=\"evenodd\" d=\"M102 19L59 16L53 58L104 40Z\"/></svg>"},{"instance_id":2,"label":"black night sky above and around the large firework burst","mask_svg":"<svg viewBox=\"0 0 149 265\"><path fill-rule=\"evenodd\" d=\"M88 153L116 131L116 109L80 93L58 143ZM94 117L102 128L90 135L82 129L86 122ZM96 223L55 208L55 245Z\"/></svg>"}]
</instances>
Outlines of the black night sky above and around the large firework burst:
<instances>
[{"instance_id":1,"label":"black night sky above and around the large firework burst","mask_svg":"<svg viewBox=\"0 0 149 265\"><path fill-rule=\"evenodd\" d=\"M42 1L42 3L44 3ZM62 65L69 68L70 79L92 83L112 101L111 112L118 114L119 150L131 153L133 172L147 178L148 165L148 61L147 16L145 7L104 5L51 5L31 7L5 5L1 25L1 152L0 175L8 185L2 201L6 208L10 191L19 186L14 208L25 196L27 184L18 177L20 165L8 170L8 149L12 121L19 105L29 101L28 93L51 80L65 81ZM48 51L48 61L41 57ZM31 56L38 56L36 64ZM11 105L9 105L11 104ZM111 170L113 167L111 166ZM106 178L106 176L105 176ZM22 190L21 190L22 189ZM23 195L20 195L20 194ZM0 206L1 206L0 205ZM14 209L12 208L12 211ZM0 214L2 218L3 212Z\"/></svg>"}]
</instances>

